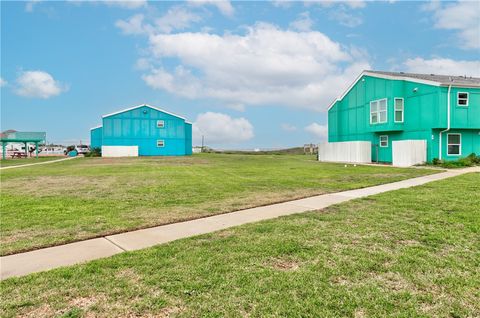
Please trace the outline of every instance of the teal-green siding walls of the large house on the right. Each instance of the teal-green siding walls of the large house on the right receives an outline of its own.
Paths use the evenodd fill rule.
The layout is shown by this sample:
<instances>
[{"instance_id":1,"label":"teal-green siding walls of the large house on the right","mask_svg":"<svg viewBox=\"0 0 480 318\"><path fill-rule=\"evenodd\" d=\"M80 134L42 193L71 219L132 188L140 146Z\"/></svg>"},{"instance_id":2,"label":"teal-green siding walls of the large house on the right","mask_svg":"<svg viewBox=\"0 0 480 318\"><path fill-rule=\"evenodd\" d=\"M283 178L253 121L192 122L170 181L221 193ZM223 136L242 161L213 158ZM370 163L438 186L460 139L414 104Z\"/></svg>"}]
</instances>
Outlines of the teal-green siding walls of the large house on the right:
<instances>
[{"instance_id":1,"label":"teal-green siding walls of the large house on the right","mask_svg":"<svg viewBox=\"0 0 480 318\"><path fill-rule=\"evenodd\" d=\"M469 92L469 106L457 106L456 93ZM427 160L438 157L438 132L447 127L447 87L363 76L328 111L328 141L370 141L372 161L392 162L392 141L426 140ZM404 99L404 121L394 122L394 98ZM370 101L387 98L387 122L370 124ZM451 125L480 129L480 89L451 89ZM388 147L379 147L381 135ZM465 149L477 149L470 134L462 139ZM446 136L442 144L446 145ZM446 146L445 146L446 147ZM477 153L480 153L477 151ZM452 160L444 152L443 159Z\"/></svg>"}]
</instances>

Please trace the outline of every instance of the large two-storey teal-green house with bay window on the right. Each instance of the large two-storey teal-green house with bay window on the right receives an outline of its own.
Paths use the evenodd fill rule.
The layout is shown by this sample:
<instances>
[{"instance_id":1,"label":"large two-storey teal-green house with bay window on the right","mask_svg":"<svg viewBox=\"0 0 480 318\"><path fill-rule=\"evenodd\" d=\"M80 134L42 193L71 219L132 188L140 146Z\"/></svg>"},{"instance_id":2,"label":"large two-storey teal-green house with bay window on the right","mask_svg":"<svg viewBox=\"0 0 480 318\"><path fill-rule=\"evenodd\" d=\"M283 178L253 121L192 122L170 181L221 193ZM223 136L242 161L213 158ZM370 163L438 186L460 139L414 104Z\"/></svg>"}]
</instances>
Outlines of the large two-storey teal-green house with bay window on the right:
<instances>
[{"instance_id":1,"label":"large two-storey teal-green house with bay window on the right","mask_svg":"<svg viewBox=\"0 0 480 318\"><path fill-rule=\"evenodd\" d=\"M328 108L328 144L339 142L362 142L373 162L480 155L480 78L364 71Z\"/></svg>"}]
</instances>

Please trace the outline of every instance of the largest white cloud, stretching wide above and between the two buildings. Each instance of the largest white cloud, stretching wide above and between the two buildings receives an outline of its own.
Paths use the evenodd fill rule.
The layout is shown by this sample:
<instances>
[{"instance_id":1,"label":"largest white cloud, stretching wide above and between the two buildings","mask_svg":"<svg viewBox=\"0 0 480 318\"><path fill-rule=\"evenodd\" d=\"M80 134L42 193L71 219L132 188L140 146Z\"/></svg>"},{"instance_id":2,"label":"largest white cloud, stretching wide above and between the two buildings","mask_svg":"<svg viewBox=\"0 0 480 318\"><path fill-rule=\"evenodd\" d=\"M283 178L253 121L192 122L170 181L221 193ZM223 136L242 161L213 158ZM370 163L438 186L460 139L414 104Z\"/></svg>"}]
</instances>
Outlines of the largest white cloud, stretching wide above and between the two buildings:
<instances>
[{"instance_id":1,"label":"largest white cloud, stretching wide above and between the two buildings","mask_svg":"<svg viewBox=\"0 0 480 318\"><path fill-rule=\"evenodd\" d=\"M364 53L320 32L259 23L243 35L202 32L149 37L151 58L177 58L174 69L143 76L154 89L229 104L323 110L364 69Z\"/></svg>"}]
</instances>

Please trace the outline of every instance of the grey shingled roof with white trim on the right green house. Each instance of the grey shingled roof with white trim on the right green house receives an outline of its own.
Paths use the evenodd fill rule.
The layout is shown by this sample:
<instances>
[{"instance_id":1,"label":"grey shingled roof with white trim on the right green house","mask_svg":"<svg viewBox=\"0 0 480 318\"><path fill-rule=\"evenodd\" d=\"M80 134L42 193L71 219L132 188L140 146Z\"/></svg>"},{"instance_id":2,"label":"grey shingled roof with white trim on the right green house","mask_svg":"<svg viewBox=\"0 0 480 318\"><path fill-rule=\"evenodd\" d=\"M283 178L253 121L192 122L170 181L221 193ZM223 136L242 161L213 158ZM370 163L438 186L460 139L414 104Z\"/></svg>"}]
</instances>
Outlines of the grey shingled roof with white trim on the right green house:
<instances>
[{"instance_id":1,"label":"grey shingled roof with white trim on the right green house","mask_svg":"<svg viewBox=\"0 0 480 318\"><path fill-rule=\"evenodd\" d=\"M384 79L409 81L420 84L427 84L433 86L449 86L454 87L478 87L480 88L480 78L478 77L466 77L466 76L453 76L453 75L435 75L435 74L416 74L416 73L404 73L404 72L383 72L383 71L363 71L355 81L335 99L329 106L328 110L335 105L336 102L341 101L345 95L357 84L357 82L363 76L371 76Z\"/></svg>"}]
</instances>

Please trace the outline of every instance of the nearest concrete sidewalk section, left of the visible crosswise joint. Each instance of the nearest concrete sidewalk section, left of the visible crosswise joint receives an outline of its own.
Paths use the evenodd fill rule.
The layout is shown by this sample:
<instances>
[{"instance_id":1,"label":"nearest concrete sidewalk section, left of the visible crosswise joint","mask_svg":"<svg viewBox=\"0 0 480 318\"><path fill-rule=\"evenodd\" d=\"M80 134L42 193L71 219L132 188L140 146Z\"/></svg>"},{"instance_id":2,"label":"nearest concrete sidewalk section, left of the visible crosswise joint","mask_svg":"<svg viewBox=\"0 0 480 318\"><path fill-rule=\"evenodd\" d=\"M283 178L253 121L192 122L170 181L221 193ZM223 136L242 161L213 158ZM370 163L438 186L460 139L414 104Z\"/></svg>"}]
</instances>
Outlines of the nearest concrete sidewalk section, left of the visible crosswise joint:
<instances>
[{"instance_id":1,"label":"nearest concrete sidewalk section, left of the visible crosswise joint","mask_svg":"<svg viewBox=\"0 0 480 318\"><path fill-rule=\"evenodd\" d=\"M23 276L61 266L78 264L123 252L104 238L80 241L36 251L0 257L0 278Z\"/></svg>"}]
</instances>

